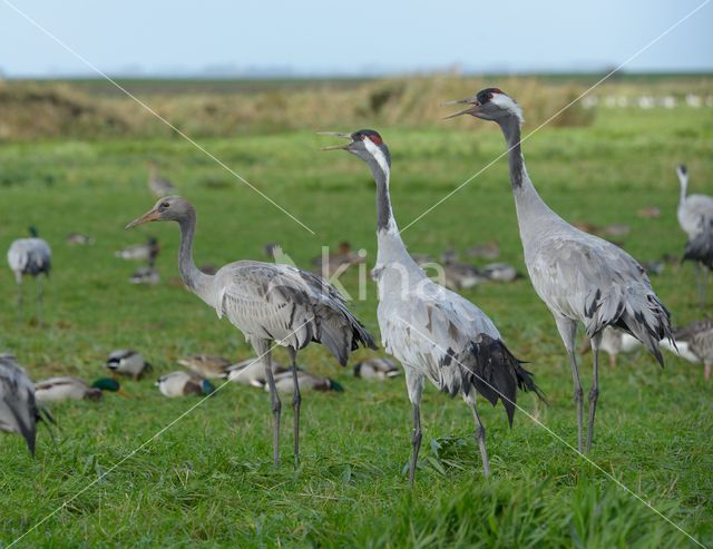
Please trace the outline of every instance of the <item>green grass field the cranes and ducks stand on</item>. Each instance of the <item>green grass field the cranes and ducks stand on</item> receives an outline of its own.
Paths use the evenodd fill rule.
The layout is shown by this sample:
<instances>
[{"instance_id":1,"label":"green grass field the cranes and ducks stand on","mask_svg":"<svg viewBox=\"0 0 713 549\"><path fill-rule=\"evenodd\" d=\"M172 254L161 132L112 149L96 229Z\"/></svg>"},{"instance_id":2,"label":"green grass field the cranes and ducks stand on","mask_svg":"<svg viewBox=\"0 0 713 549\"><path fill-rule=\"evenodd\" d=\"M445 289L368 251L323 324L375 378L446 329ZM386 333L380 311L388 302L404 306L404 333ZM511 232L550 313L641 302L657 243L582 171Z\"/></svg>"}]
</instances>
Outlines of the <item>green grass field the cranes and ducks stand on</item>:
<instances>
[{"instance_id":1,"label":"green grass field the cranes and ducks stand on","mask_svg":"<svg viewBox=\"0 0 713 549\"><path fill-rule=\"evenodd\" d=\"M499 133L484 122L420 130L380 126L374 118L362 126L380 129L391 147L401 226L504 150ZM143 160L162 160L195 204L198 264L260 258L264 243L279 242L297 264L309 265L322 245L349 239L369 252L373 265L373 184L354 158L319 151L332 144L314 135L322 129L356 128L202 140L315 236L178 138L2 145L0 248L35 224L52 246L55 271L45 329L16 323L13 280L9 271L1 275L1 346L36 380L60 373L96 379L107 353L125 346L144 352L156 376L177 370L176 359L188 353L250 356L229 323L174 284L175 226L123 231L154 203ZM529 173L550 206L573 222L631 225L624 246L642 261L682 251L674 166L685 161L693 189L710 193L712 148L710 108L602 109L590 127L545 128L524 145ZM636 217L647 206L658 206L662 217ZM96 244L66 245L72 231L90 234ZM156 235L163 246L163 281L156 287L129 285L134 265L113 256L146 235ZM412 252L434 255L448 245L462 252L495 238L502 261L525 272L505 159L403 237ZM343 282L355 294L356 272ZM676 324L703 314L695 306L692 266L667 265L653 283ZM26 290L31 295L31 282ZM374 290L370 283L367 301L351 307L378 333ZM527 277L463 295L495 320L515 354L530 362L550 402L545 408L522 395L520 404L575 443L564 349ZM353 360L367 355L360 351ZM306 394L299 470L289 459L289 405L286 459L279 469L271 463L265 393L226 386L150 440L197 401L163 398L154 376L127 381L130 399L107 394L100 403L56 405L58 443L40 431L35 461L19 437L2 437L0 546L53 513L18 546L693 547L525 414L516 414L509 430L501 406L481 403L494 472L484 480L468 409L432 388L423 399L421 467L410 490L403 473L411 425L403 379L355 380L315 345L301 357L345 392ZM286 356L277 351L276 359ZM586 389L589 361L584 357ZM604 367L600 384L594 462L702 543L713 545L713 401L702 369L668 356L661 370L638 353L624 356L616 370Z\"/></svg>"}]
</instances>

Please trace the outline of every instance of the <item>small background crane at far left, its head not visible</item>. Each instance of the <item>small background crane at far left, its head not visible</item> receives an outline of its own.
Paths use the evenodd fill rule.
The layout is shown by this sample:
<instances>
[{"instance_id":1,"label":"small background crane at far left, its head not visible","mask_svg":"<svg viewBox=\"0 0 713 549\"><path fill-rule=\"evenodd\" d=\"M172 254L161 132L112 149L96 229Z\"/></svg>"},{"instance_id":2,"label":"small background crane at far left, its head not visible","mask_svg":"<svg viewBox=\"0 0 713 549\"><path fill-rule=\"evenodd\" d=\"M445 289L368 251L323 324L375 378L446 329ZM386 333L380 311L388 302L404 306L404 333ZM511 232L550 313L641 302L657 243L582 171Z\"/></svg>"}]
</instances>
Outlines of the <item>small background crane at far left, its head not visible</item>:
<instances>
[{"instance_id":1,"label":"small background crane at far left, its head not visible","mask_svg":"<svg viewBox=\"0 0 713 549\"><path fill-rule=\"evenodd\" d=\"M18 283L18 317L22 316L22 277L31 275L37 278L37 305L41 322L43 288L40 275L49 277L52 267L52 252L49 244L37 236L37 228L32 226L29 232L29 238L12 241L10 249L8 249L8 265L14 273L14 280Z\"/></svg>"}]
</instances>

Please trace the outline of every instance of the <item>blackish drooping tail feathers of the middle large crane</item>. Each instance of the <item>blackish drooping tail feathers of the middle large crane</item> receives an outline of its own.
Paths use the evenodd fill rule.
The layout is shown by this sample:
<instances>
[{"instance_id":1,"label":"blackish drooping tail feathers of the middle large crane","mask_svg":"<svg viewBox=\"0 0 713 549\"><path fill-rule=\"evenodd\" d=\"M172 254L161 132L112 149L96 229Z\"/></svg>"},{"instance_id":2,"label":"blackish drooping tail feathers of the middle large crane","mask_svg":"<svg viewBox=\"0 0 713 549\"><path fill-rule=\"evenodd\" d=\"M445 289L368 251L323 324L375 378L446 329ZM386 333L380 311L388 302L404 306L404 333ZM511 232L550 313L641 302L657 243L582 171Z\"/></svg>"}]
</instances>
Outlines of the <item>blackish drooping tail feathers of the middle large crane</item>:
<instances>
[{"instance_id":1,"label":"blackish drooping tail feathers of the middle large crane","mask_svg":"<svg viewBox=\"0 0 713 549\"><path fill-rule=\"evenodd\" d=\"M533 374L522 367L524 362L516 359L500 340L480 334L478 341L471 343L473 361L469 366L461 365L466 394L471 386L485 396L494 406L498 400L502 402L512 427L512 418L517 401L518 388L525 392L533 391L545 403L545 394L535 384Z\"/></svg>"}]
</instances>

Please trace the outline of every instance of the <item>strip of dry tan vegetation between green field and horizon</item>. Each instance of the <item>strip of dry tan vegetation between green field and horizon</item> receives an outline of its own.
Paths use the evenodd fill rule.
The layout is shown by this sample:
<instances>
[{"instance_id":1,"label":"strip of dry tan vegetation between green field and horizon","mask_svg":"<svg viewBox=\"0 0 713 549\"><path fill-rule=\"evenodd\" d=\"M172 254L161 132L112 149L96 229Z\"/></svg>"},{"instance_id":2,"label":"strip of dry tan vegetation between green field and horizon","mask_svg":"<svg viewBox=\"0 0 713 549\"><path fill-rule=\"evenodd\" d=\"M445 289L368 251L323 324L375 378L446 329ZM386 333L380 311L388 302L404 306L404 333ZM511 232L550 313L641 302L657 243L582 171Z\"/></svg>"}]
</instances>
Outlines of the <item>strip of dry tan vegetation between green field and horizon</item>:
<instances>
[{"instance_id":1,"label":"strip of dry tan vegetation between green field and horizon","mask_svg":"<svg viewBox=\"0 0 713 549\"><path fill-rule=\"evenodd\" d=\"M518 80L517 82L515 80ZM575 84L544 84L536 78L504 78L517 88L529 121L540 122L584 89ZM364 122L429 126L443 116L440 104L490 82L482 78L442 75L387 78L336 86L319 82L302 89L265 86L263 90L224 94L207 89L139 94L152 108L193 136L231 136L303 128L352 127ZM107 84L106 86L110 86ZM593 109L567 109L554 124L588 125ZM456 124L465 124L457 121ZM53 137L160 137L172 130L125 96L107 96L72 84L0 82L0 139Z\"/></svg>"}]
</instances>

